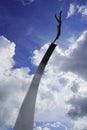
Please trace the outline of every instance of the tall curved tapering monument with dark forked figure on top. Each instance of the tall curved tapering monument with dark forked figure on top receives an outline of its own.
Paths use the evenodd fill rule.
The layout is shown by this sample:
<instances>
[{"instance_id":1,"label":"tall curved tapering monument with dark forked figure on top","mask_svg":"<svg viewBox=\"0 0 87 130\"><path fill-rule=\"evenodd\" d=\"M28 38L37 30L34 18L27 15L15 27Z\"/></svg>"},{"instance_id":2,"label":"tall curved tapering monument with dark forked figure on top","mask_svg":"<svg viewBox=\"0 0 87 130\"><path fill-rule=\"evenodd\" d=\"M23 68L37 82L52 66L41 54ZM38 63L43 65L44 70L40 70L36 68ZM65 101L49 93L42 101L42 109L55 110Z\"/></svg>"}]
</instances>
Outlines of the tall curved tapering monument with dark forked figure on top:
<instances>
[{"instance_id":1,"label":"tall curved tapering monument with dark forked figure on top","mask_svg":"<svg viewBox=\"0 0 87 130\"><path fill-rule=\"evenodd\" d=\"M57 25L57 36L54 39L54 41L49 46L47 52L45 53L41 63L39 64L39 67L36 71L36 74L33 77L33 80L31 82L30 88L25 96L25 99L23 101L23 104L21 106L21 109L19 111L18 118L16 120L14 130L33 130L33 121L34 121L34 111L35 111L35 102L36 102L36 96L38 91L39 82L41 79L41 76L43 74L44 68L53 53L55 47L56 47L56 40L60 36L61 32L61 14L62 11L60 11L59 18L55 15L55 18L58 22Z\"/></svg>"}]
</instances>

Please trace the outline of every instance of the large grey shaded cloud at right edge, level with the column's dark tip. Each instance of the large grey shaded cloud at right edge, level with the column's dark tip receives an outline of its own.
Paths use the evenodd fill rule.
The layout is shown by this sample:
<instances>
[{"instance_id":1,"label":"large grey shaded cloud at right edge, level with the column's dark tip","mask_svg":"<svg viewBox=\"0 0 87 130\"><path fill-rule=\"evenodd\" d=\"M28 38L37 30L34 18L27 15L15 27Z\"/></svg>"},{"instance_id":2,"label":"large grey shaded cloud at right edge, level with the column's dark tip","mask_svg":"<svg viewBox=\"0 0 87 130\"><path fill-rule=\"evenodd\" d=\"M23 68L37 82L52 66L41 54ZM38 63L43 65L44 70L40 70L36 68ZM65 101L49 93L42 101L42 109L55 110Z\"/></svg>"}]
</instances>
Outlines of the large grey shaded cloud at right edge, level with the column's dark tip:
<instances>
[{"instance_id":1,"label":"large grey shaded cloud at right edge, level with the column's dark tip","mask_svg":"<svg viewBox=\"0 0 87 130\"><path fill-rule=\"evenodd\" d=\"M76 41L77 47L61 64L61 69L73 72L87 80L87 31L84 31Z\"/></svg>"}]
</instances>

